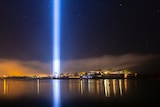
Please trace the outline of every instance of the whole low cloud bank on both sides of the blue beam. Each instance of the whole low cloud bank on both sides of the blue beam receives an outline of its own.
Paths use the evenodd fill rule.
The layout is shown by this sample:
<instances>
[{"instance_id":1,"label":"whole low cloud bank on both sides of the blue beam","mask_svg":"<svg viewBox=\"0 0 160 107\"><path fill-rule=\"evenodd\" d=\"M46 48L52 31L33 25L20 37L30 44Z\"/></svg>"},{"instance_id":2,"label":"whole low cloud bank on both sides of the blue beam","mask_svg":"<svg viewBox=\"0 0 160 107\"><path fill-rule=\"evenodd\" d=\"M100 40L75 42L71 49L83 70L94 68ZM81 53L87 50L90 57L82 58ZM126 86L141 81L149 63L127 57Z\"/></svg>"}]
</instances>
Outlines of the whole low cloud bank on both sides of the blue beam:
<instances>
[{"instance_id":1,"label":"whole low cloud bank on both sides of the blue beam","mask_svg":"<svg viewBox=\"0 0 160 107\"><path fill-rule=\"evenodd\" d=\"M101 57L68 60L61 62L61 72L81 72L100 68L102 70L129 69L135 72L160 71L159 55L124 54L120 56L104 55ZM0 59L0 76L52 75L52 63L41 61L22 61Z\"/></svg>"}]
</instances>

